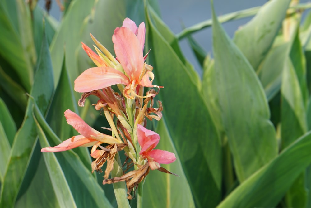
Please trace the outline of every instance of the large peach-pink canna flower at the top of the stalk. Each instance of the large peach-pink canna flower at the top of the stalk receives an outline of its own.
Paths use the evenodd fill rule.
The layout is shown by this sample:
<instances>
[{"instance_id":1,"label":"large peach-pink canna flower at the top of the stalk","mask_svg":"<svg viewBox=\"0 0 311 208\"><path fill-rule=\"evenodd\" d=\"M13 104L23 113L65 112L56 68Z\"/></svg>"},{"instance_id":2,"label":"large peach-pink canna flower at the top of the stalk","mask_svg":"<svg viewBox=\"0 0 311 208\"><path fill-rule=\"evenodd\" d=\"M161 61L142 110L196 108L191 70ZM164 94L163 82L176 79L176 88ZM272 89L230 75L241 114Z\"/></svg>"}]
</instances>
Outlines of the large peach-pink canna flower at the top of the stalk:
<instances>
[{"instance_id":1,"label":"large peach-pink canna flower at the top of the stalk","mask_svg":"<svg viewBox=\"0 0 311 208\"><path fill-rule=\"evenodd\" d=\"M85 93L93 90L104 89L106 87L123 84L123 95L127 98L143 97L137 94L137 86L157 87L152 85L154 74L152 67L144 63L143 48L145 44L145 23L142 22L137 28L135 22L126 18L122 27L114 30L112 41L118 62L122 65L124 73L109 66L93 67L85 70L75 80L75 91ZM87 49L84 46L84 49ZM96 64L101 65L100 59L95 53L87 49L88 55ZM151 80L150 80L151 79ZM145 97L155 96L148 94Z\"/></svg>"}]
</instances>

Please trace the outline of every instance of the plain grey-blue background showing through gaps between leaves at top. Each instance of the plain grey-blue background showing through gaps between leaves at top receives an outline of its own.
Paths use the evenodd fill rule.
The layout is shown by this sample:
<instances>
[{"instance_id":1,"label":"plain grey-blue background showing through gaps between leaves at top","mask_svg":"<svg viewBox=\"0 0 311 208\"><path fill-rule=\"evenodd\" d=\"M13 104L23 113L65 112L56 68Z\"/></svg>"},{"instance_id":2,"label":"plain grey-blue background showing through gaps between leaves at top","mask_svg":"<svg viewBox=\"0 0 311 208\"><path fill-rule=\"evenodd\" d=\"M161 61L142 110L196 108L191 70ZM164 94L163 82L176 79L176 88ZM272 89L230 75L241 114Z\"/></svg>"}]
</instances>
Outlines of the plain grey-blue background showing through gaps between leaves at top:
<instances>
[{"instance_id":1,"label":"plain grey-blue background showing through gaps between leaves at top","mask_svg":"<svg viewBox=\"0 0 311 208\"><path fill-rule=\"evenodd\" d=\"M84 0L83 0L84 1ZM158 0L161 16L165 24L175 33L182 31L182 25L190 27L199 22L211 18L211 4L209 0ZM216 15L224 15L230 12L236 12L251 7L262 6L267 0L215 0L214 7ZM301 0L301 3L310 2L310 0ZM44 7L44 0L39 0L39 4ZM59 19L59 7L55 0L52 0L50 14ZM244 18L230 21L223 24L225 31L230 37L233 37L234 31L247 23L251 18ZM205 49L206 52L212 52L212 34L211 28L206 28L193 35L195 40ZM186 39L180 42L181 50L184 56L193 64L194 68L201 74L200 66L194 57Z\"/></svg>"}]
</instances>

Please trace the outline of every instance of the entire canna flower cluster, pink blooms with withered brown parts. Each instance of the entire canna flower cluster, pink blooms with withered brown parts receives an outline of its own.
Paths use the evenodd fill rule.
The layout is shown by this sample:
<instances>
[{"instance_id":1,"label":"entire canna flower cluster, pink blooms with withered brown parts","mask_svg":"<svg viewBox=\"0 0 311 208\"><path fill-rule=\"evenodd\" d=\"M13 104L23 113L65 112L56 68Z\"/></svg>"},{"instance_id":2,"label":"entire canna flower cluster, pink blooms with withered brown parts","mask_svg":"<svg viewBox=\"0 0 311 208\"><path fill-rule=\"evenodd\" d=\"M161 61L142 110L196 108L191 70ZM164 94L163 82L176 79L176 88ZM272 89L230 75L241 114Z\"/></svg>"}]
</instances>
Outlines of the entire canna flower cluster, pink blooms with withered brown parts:
<instances>
[{"instance_id":1,"label":"entire canna flower cluster, pink blooms with withered brown parts","mask_svg":"<svg viewBox=\"0 0 311 208\"><path fill-rule=\"evenodd\" d=\"M129 199L132 198L131 191L145 179L150 169L173 174L160 164L176 160L174 153L154 149L160 136L145 127L145 118L160 120L162 117L162 103L158 101L157 108L153 105L154 97L163 88L152 84L153 67L145 62L148 54L143 55L145 33L144 22L137 27L132 20L126 18L122 27L117 27L112 36L116 57L92 35L97 54L82 43L82 48L97 67L85 70L75 80L75 91L83 93L78 104L84 106L88 96L97 96L99 100L94 104L95 109L104 112L110 125L106 129L111 130L112 134L106 135L95 130L68 109L65 111L67 123L81 135L41 150L59 152L79 146L92 146L91 157L95 159L91 164L93 172L102 172L101 168L107 161L103 184L126 181ZM119 93L114 91L116 88L112 88L114 85ZM151 89L144 94L144 87ZM127 156L123 164L125 170L122 176L109 179L114 167L114 157L119 151L124 151ZM134 170L129 171L132 165Z\"/></svg>"}]
</instances>

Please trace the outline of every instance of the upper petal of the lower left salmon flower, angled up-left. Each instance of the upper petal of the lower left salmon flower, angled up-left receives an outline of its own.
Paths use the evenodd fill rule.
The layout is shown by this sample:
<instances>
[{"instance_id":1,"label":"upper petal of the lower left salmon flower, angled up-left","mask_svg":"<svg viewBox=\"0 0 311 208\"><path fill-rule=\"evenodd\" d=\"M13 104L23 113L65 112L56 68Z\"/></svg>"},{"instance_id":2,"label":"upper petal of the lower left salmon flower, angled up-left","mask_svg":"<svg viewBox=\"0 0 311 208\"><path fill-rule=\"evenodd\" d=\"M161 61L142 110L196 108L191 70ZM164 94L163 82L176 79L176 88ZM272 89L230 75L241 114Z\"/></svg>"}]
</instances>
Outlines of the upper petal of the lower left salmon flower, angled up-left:
<instances>
[{"instance_id":1,"label":"upper petal of the lower left salmon flower, angled up-left","mask_svg":"<svg viewBox=\"0 0 311 208\"><path fill-rule=\"evenodd\" d=\"M77 130L80 134L82 134L84 137L92 138L91 136L97 136L101 135L99 131L96 131L94 128L90 127L83 121L83 119L80 118L76 113L72 112L71 110L65 111L65 117L67 120L67 123L69 125L72 125L74 129Z\"/></svg>"}]
</instances>

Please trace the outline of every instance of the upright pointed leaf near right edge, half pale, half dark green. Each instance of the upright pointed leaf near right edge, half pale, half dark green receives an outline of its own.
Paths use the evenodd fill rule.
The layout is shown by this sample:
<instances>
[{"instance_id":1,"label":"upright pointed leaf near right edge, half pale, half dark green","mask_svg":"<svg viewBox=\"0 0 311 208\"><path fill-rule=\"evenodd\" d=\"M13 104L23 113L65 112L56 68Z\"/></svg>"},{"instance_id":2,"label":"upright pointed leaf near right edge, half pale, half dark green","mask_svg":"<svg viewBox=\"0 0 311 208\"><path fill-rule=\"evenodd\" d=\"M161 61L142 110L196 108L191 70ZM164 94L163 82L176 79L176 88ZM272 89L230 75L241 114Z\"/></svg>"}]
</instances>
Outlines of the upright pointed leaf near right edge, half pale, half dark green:
<instances>
[{"instance_id":1,"label":"upright pointed leaf near right edge, half pale, half dark green","mask_svg":"<svg viewBox=\"0 0 311 208\"><path fill-rule=\"evenodd\" d=\"M281 86L281 148L286 148L307 132L305 100L307 87L305 80L305 60L298 38L298 30L292 45L290 57L283 70ZM285 202L289 207L305 207L307 192L301 174L286 193Z\"/></svg>"}]
</instances>

